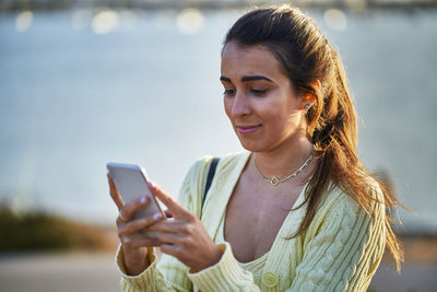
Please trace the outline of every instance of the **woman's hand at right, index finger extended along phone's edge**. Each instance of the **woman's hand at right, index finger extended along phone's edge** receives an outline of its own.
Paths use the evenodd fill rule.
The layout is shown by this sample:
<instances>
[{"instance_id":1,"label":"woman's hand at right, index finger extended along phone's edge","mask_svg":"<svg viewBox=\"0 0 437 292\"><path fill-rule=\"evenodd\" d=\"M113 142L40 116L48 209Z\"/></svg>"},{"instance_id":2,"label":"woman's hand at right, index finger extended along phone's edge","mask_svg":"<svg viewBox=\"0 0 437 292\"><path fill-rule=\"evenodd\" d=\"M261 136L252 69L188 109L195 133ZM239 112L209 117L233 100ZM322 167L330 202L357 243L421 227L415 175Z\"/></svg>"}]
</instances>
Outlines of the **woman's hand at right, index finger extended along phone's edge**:
<instances>
[{"instance_id":1,"label":"woman's hand at right, index finger extended along phone's edge","mask_svg":"<svg viewBox=\"0 0 437 292\"><path fill-rule=\"evenodd\" d=\"M167 208L175 220L163 220L147 227L158 232L161 252L172 255L190 267L191 272L215 265L222 258L222 249L215 245L200 220L158 186L149 183L149 189Z\"/></svg>"}]
</instances>

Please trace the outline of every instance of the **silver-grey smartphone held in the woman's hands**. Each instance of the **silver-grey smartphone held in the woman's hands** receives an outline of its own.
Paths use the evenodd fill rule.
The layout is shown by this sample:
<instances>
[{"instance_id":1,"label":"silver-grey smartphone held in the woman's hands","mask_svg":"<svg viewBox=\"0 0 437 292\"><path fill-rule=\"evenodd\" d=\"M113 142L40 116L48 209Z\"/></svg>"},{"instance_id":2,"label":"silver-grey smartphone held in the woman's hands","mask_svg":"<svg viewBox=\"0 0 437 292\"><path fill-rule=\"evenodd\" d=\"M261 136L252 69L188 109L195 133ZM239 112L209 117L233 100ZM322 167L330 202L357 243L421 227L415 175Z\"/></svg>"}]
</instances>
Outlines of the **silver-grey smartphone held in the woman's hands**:
<instances>
[{"instance_id":1,"label":"silver-grey smartphone held in the woman's hands","mask_svg":"<svg viewBox=\"0 0 437 292\"><path fill-rule=\"evenodd\" d=\"M109 162L106 164L109 175L113 177L114 184L125 203L147 196L150 203L133 213L131 219L140 219L156 212L161 212L166 218L165 212L161 209L157 199L147 187L147 174L143 167L135 164L126 164ZM150 233L147 233L150 234Z\"/></svg>"}]
</instances>

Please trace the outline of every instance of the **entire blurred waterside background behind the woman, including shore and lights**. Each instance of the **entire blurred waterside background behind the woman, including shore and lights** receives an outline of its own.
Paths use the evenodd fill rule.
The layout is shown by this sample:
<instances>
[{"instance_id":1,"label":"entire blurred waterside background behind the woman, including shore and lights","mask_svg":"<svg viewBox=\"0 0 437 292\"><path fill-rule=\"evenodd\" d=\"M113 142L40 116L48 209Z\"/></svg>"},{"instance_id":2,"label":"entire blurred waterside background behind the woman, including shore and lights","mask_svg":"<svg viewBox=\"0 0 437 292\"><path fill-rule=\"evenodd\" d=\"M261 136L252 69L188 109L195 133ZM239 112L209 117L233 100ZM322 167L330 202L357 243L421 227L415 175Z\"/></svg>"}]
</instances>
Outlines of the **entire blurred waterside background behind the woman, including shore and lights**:
<instances>
[{"instance_id":1,"label":"entire blurred waterside background behind the woman, including shore and lights","mask_svg":"<svg viewBox=\"0 0 437 292\"><path fill-rule=\"evenodd\" d=\"M135 163L177 197L200 156L241 151L222 105L220 50L245 0L0 0L0 282L5 291L119 291L106 163ZM287 2L341 54L359 155L398 210L402 275L437 284L437 2Z\"/></svg>"}]
</instances>

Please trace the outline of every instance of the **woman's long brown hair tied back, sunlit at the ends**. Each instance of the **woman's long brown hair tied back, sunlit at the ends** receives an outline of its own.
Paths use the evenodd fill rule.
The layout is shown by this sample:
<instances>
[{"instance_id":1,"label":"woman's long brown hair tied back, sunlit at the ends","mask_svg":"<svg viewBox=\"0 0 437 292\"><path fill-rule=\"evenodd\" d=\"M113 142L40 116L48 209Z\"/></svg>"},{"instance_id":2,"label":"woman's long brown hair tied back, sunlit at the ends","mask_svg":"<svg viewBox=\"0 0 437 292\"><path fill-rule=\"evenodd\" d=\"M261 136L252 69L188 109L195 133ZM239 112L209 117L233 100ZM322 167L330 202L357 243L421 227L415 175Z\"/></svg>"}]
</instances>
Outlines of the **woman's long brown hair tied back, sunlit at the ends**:
<instances>
[{"instance_id":1,"label":"woman's long brown hair tied back, sunlit at the ends","mask_svg":"<svg viewBox=\"0 0 437 292\"><path fill-rule=\"evenodd\" d=\"M400 270L403 252L390 225L390 209L400 202L359 162L356 153L357 115L343 65L315 21L288 5L258 8L231 27L223 49L229 42L267 47L279 60L281 70L290 78L296 92L316 97L306 116L307 132L317 151L318 164L306 190L306 215L293 237L308 229L322 194L333 182L369 213L375 202L385 203L386 243ZM383 202L371 194L371 180L379 184Z\"/></svg>"}]
</instances>

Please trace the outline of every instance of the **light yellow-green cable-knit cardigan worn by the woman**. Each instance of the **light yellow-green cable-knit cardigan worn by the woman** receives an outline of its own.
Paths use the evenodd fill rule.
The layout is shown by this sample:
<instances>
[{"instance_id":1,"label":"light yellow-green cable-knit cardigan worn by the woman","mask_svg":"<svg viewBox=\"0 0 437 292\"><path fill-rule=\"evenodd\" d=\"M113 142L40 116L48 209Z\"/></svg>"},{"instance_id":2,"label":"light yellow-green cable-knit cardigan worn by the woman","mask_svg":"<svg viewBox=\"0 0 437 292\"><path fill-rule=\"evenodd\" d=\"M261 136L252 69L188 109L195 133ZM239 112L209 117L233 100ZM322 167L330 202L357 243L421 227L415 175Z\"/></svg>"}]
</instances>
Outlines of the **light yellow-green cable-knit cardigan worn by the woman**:
<instances>
[{"instance_id":1,"label":"light yellow-green cable-knit cardigan worn by the woman","mask_svg":"<svg viewBox=\"0 0 437 292\"><path fill-rule=\"evenodd\" d=\"M212 157L199 160L189 171L179 196L185 208L196 213L215 241L227 201L238 182L249 153L221 159L209 196L201 210L208 166ZM381 199L379 188L371 187ZM304 191L295 206L304 201ZM240 267L226 242L221 260L200 272L176 258L163 255L157 264L150 248L151 265L141 275L126 275L121 247L116 262L123 291L366 291L385 250L385 207L375 203L371 214L339 188L323 196L308 230L293 238L305 215L306 206L286 217L268 255L261 275ZM244 234L241 235L244 236ZM258 285L257 285L258 283Z\"/></svg>"}]
</instances>

